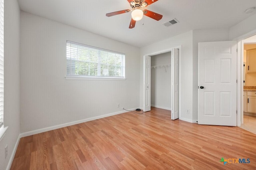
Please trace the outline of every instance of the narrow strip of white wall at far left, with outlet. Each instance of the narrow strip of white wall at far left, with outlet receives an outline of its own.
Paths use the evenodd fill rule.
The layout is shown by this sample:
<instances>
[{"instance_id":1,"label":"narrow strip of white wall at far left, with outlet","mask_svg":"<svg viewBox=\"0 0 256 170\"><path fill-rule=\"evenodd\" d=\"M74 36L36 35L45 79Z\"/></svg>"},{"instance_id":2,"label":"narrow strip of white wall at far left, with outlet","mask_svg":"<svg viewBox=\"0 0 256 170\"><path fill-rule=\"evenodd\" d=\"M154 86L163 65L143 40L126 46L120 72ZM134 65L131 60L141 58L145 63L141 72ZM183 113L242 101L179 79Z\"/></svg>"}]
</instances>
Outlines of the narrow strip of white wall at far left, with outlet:
<instances>
[{"instance_id":1,"label":"narrow strip of white wall at far left, with outlet","mask_svg":"<svg viewBox=\"0 0 256 170\"><path fill-rule=\"evenodd\" d=\"M20 134L20 8L17 0L4 1L4 126L0 141L0 170L6 169ZM8 157L4 148L8 145Z\"/></svg>"}]
</instances>

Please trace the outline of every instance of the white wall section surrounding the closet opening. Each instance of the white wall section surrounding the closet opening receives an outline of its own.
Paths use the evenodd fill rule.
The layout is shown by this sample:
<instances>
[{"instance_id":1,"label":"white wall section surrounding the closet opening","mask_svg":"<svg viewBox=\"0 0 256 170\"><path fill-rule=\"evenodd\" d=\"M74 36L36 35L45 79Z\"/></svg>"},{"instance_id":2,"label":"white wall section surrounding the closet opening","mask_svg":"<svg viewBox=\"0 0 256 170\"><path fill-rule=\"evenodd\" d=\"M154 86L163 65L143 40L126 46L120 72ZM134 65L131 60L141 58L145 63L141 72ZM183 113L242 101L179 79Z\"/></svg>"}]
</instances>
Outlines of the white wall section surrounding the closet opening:
<instances>
[{"instance_id":1,"label":"white wall section surrounding the closet opening","mask_svg":"<svg viewBox=\"0 0 256 170\"><path fill-rule=\"evenodd\" d=\"M143 56L181 45L181 120L192 121L193 54L192 31L140 49L140 107L143 107ZM186 113L189 109L190 113Z\"/></svg>"}]
</instances>

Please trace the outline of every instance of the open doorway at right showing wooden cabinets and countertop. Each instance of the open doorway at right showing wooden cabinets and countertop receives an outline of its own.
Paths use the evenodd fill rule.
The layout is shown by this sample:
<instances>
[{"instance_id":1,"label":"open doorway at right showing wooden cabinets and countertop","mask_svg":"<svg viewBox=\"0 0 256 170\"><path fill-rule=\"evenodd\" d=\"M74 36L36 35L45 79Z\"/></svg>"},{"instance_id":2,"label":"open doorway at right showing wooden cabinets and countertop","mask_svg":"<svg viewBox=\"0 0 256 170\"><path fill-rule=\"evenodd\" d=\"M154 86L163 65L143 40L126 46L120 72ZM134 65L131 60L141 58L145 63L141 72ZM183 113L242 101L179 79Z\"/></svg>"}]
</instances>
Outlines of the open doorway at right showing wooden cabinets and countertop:
<instances>
[{"instance_id":1,"label":"open doorway at right showing wooden cabinets and countertop","mask_svg":"<svg viewBox=\"0 0 256 170\"><path fill-rule=\"evenodd\" d=\"M256 35L246 38L241 44L241 62L244 65L241 68L243 76L243 95L241 95L241 128L256 134ZM256 68L255 68L256 69Z\"/></svg>"}]
</instances>

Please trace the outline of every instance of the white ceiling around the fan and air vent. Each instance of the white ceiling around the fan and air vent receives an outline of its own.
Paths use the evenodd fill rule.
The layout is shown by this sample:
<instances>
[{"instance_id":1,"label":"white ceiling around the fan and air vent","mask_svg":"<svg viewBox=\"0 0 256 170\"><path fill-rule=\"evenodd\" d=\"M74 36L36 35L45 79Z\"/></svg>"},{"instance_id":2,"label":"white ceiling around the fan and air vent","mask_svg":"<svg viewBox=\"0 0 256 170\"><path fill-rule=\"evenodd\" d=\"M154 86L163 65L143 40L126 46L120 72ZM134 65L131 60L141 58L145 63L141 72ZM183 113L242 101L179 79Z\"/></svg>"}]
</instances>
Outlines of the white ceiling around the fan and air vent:
<instances>
[{"instance_id":1,"label":"white ceiling around the fan and air vent","mask_svg":"<svg viewBox=\"0 0 256 170\"><path fill-rule=\"evenodd\" d=\"M160 21L144 16L129 29L131 13L106 17L106 13L130 9L127 0L18 0L20 9L63 24L134 46L196 29L230 28L249 16L256 0L158 0L146 9L162 14ZM176 18L170 27L162 24Z\"/></svg>"}]
</instances>

